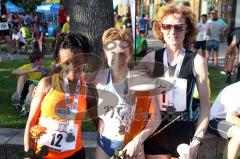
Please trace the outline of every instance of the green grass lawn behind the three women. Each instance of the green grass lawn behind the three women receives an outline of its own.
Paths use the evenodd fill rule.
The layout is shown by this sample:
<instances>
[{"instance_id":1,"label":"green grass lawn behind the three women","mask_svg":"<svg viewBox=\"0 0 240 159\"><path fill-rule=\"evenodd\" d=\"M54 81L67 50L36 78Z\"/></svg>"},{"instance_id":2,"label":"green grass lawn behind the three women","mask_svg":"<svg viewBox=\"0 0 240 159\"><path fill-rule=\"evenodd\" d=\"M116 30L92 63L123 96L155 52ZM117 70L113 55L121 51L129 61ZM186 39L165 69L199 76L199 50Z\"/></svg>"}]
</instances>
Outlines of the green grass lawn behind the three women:
<instances>
[{"instance_id":1,"label":"green grass lawn behind the three women","mask_svg":"<svg viewBox=\"0 0 240 159\"><path fill-rule=\"evenodd\" d=\"M24 128L26 118L19 115L20 110L11 106L11 95L16 89L17 78L11 74L13 69L28 63L28 60L0 62L0 127ZM44 68L49 68L50 59L45 60ZM214 101L217 94L222 90L225 84L225 75L220 74L219 68L211 67L209 69L209 79L211 81L211 102ZM235 77L233 78L235 79ZM92 122L86 120L83 126L84 131L96 130Z\"/></svg>"}]
</instances>

